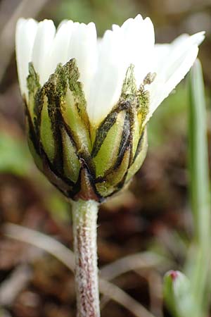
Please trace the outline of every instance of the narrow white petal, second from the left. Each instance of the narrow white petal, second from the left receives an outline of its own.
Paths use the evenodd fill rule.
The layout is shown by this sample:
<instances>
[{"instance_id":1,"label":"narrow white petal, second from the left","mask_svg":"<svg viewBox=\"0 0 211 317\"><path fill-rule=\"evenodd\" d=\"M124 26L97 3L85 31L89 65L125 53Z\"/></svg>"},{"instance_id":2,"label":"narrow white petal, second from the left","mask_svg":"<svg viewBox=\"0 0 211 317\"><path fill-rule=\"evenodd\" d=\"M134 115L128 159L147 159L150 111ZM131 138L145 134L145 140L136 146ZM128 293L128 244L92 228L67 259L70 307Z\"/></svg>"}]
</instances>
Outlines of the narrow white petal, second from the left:
<instances>
[{"instance_id":1,"label":"narrow white petal, second from the left","mask_svg":"<svg viewBox=\"0 0 211 317\"><path fill-rule=\"evenodd\" d=\"M32 62L39 74L41 85L49 79L49 51L55 36L56 28L52 20L41 21L38 25L37 35L34 39Z\"/></svg>"}]
</instances>

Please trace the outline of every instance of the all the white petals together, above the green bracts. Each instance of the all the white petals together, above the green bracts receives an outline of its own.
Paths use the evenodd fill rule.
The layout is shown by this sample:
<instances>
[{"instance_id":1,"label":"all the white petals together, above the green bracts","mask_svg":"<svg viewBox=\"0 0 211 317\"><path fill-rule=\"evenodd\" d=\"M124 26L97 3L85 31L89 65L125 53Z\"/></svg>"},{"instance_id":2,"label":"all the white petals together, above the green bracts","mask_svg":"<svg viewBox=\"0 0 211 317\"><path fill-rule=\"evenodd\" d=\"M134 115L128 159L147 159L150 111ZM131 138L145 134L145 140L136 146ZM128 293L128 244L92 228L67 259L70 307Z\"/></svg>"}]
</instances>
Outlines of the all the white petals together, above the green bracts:
<instances>
[{"instance_id":1,"label":"all the white petals together, above the green bracts","mask_svg":"<svg viewBox=\"0 0 211 317\"><path fill-rule=\"evenodd\" d=\"M155 44L150 18L129 18L122 26L113 25L98 41L94 23L64 20L57 31L51 20L40 23L33 19L18 20L16 56L20 90L27 98L28 64L34 63L43 85L58 63L75 58L87 100L87 113L92 125L99 125L120 98L122 83L129 65L134 65L137 88L148 73L156 73L147 85L152 116L172 89L184 78L198 55L204 32L181 35L172 44Z\"/></svg>"}]
</instances>

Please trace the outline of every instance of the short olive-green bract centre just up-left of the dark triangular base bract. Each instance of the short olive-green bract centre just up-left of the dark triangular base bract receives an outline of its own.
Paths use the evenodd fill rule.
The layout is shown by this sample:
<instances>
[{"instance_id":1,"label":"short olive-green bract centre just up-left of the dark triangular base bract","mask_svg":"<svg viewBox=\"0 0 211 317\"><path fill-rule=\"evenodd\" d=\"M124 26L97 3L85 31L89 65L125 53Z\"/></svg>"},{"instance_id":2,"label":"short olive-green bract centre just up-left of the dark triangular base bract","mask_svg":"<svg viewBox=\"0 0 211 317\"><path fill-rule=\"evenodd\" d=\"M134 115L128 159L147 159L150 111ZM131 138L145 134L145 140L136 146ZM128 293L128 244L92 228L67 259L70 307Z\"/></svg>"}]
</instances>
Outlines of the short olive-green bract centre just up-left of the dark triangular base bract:
<instances>
[{"instance_id":1,"label":"short olive-green bract centre just up-left of the dark triangular base bract","mask_svg":"<svg viewBox=\"0 0 211 317\"><path fill-rule=\"evenodd\" d=\"M75 153L75 147L64 128L61 129L61 135L63 142L63 170L65 177L70 178L72 182L77 182L81 165Z\"/></svg>"}]
</instances>

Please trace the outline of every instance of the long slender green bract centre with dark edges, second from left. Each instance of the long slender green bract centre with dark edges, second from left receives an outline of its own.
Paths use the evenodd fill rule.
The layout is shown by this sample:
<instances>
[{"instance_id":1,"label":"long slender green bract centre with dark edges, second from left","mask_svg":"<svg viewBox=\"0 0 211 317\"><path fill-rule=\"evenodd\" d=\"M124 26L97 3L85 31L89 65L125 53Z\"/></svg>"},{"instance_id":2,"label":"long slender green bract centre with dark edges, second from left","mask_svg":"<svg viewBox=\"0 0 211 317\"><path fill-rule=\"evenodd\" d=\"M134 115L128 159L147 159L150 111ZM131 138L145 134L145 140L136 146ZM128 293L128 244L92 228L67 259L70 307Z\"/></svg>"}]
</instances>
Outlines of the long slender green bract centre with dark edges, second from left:
<instances>
[{"instance_id":1,"label":"long slender green bract centre with dark edges, second from left","mask_svg":"<svg viewBox=\"0 0 211 317\"><path fill-rule=\"evenodd\" d=\"M53 138L53 129L49 117L48 99L46 96L44 96L44 103L41 109L40 139L46 155L51 163L53 163L55 157L55 140Z\"/></svg>"}]
</instances>

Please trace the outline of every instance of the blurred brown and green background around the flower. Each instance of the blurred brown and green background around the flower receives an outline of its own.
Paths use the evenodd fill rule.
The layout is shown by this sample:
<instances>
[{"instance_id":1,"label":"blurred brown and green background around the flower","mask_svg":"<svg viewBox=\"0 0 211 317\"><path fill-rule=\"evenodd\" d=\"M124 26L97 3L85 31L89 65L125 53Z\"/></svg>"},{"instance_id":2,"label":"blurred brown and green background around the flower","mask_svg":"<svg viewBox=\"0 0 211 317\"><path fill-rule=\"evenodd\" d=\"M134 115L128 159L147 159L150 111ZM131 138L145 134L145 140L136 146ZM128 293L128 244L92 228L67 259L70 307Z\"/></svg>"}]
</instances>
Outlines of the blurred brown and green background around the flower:
<instances>
[{"instance_id":1,"label":"blurred brown and green background around the flower","mask_svg":"<svg viewBox=\"0 0 211 317\"><path fill-rule=\"evenodd\" d=\"M72 273L41 249L18 242L18 232L17 241L4 234L5 224L15 223L72 247L68 204L39 173L27 149L15 66L15 23L20 16L51 18L56 25L63 19L94 21L101 37L113 23L121 25L138 13L153 20L156 42L171 42L184 32L206 31L199 58L207 104L203 124L207 124L210 144L210 0L0 1L0 316L75 316ZM122 196L101 207L98 258L102 272L103 266L117 259L139 254L141 261L140 252L148 252L143 256L146 264L140 262L140 268L137 259L123 261L129 263L130 269L115 279L115 285L129 299L120 296L116 304L103 298L102 316L139 316L134 315L137 303L157 317L176 316L163 303L162 277L170 268L183 270L195 240L188 195L188 103L184 80L149 123L148 156L134 182ZM210 154L209 147L209 158ZM150 261L152 254L155 259Z\"/></svg>"}]
</instances>

